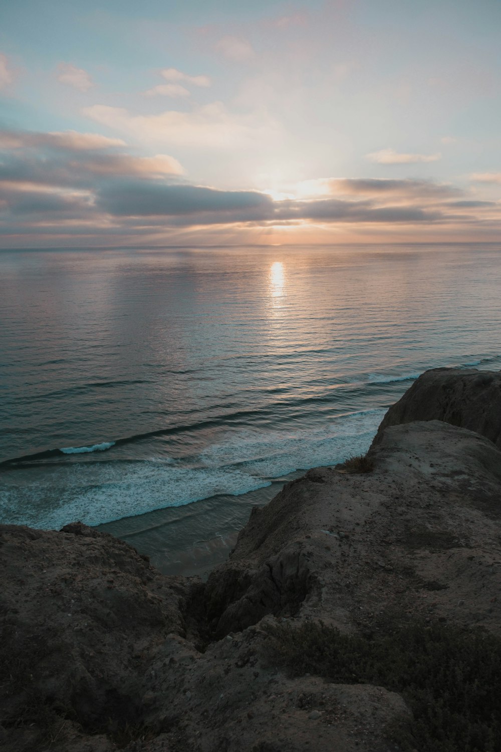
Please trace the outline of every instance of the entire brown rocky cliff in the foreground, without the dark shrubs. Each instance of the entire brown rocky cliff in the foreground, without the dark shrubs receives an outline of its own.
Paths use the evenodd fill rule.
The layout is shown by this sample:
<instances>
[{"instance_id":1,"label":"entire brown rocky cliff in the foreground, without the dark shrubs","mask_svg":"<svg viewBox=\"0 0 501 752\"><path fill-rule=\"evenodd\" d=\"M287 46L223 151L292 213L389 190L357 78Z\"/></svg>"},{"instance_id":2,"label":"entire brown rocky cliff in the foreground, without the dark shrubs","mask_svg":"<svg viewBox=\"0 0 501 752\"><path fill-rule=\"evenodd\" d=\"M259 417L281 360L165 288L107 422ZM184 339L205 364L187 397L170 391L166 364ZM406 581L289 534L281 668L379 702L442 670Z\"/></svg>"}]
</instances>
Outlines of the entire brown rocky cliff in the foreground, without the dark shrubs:
<instances>
[{"instance_id":1,"label":"entire brown rocky cliff in the foreground, without the dark shrubs","mask_svg":"<svg viewBox=\"0 0 501 752\"><path fill-rule=\"evenodd\" d=\"M449 415L448 384L446 394L477 400L462 415L484 415L490 431L493 409L480 408L478 389L496 397L499 374L458 378L466 387L451 371L424 374L408 395L423 388L426 404L408 401L427 422L407 423L408 408L403 425L385 419L361 467L316 468L255 508L207 583L161 575L80 523L0 527L3 748L412 750L394 741L412 720L405 687L297 676L273 630L322 620L333 629L325 634L346 639L416 624L499 635L497 436L428 420L433 401ZM353 472L361 468L370 472Z\"/></svg>"}]
</instances>

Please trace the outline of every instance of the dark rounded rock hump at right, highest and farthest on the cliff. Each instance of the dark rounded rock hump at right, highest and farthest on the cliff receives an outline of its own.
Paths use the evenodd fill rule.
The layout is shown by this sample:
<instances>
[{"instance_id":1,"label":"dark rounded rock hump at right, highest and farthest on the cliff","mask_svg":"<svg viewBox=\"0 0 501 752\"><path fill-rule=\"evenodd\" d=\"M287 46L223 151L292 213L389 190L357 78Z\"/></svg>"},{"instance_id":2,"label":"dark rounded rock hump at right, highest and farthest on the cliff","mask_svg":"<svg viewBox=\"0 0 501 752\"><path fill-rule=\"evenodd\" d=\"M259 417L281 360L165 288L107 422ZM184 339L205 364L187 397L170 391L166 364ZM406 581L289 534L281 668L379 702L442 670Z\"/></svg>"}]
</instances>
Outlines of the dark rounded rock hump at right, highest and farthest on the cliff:
<instances>
[{"instance_id":1,"label":"dark rounded rock hump at right, highest and farthest on the cliff","mask_svg":"<svg viewBox=\"0 0 501 752\"><path fill-rule=\"evenodd\" d=\"M501 448L501 373L475 368L425 371L388 410L374 444L388 426L412 420L443 420L486 436Z\"/></svg>"}]
</instances>

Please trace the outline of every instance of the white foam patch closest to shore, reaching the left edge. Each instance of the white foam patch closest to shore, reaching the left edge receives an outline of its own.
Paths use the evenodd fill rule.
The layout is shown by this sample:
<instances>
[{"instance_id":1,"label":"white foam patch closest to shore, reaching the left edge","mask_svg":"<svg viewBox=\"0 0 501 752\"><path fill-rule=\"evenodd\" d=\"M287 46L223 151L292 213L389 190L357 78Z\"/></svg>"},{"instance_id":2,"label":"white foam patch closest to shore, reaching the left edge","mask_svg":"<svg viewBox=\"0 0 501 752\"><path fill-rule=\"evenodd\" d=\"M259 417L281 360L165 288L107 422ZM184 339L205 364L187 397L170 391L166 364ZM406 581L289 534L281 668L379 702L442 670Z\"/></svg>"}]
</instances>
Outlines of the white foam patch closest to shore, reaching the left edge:
<instances>
[{"instance_id":1,"label":"white foam patch closest to shore, reaching the left edge","mask_svg":"<svg viewBox=\"0 0 501 752\"><path fill-rule=\"evenodd\" d=\"M14 471L14 475L23 471ZM225 493L264 488L269 481L225 468L183 468L169 462L113 462L45 468L28 485L0 491L4 523L57 529L74 520L98 525Z\"/></svg>"}]
</instances>

